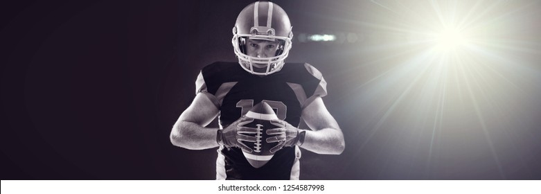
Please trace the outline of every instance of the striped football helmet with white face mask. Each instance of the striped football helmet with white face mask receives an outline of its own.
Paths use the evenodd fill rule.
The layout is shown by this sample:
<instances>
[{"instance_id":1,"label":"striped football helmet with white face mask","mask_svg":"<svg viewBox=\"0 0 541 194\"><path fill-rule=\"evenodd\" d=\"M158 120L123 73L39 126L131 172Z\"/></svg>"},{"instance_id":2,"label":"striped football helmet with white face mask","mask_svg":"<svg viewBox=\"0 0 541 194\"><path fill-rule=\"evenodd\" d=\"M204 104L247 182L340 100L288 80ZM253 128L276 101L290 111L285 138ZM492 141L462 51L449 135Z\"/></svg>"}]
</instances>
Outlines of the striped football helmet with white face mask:
<instances>
[{"instance_id":1,"label":"striped football helmet with white face mask","mask_svg":"<svg viewBox=\"0 0 541 194\"><path fill-rule=\"evenodd\" d=\"M249 73L266 76L283 67L291 49L293 37L290 18L285 11L272 2L255 2L246 6L238 15L233 27L231 43L240 66ZM263 39L278 42L274 57L260 58L247 54L247 39ZM255 64L266 64L266 71L254 71Z\"/></svg>"}]
</instances>

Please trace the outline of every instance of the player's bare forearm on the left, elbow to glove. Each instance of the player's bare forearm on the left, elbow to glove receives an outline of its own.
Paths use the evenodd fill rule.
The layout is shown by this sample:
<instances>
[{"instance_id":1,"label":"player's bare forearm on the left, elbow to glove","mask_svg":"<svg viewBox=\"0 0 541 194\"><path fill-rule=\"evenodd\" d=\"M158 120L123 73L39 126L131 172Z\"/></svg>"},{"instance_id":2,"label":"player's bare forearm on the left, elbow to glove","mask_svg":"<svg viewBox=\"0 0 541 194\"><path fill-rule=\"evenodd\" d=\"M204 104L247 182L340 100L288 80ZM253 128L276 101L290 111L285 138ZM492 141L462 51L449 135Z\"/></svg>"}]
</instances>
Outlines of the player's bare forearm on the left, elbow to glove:
<instances>
[{"instance_id":1,"label":"player's bare forearm on the left, elbow to glove","mask_svg":"<svg viewBox=\"0 0 541 194\"><path fill-rule=\"evenodd\" d=\"M208 128L191 123L179 121L171 130L170 140L173 145L190 150L204 150L218 146L216 132L218 128Z\"/></svg>"}]
</instances>

